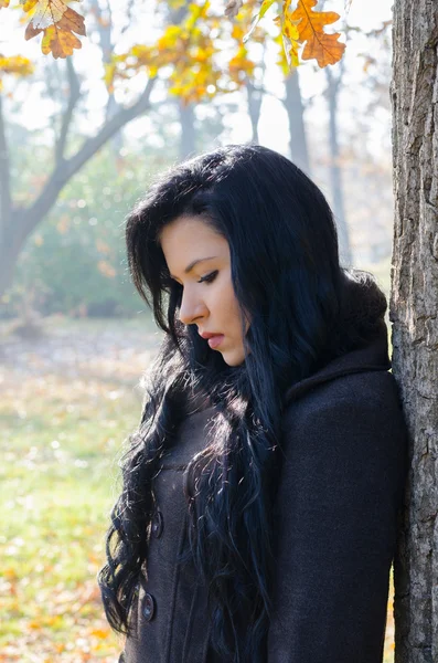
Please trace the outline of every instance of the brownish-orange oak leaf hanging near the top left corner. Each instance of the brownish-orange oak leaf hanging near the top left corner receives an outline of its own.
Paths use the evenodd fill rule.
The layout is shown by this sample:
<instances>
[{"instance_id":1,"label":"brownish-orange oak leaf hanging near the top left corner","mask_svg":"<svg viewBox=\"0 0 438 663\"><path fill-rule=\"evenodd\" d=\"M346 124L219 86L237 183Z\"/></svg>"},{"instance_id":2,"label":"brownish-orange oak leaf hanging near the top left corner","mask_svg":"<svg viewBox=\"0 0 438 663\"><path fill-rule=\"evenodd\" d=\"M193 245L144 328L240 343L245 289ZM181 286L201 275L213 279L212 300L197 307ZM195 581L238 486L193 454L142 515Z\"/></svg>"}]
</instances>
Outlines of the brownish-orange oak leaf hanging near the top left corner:
<instances>
[{"instance_id":1,"label":"brownish-orange oak leaf hanging near the top left corner","mask_svg":"<svg viewBox=\"0 0 438 663\"><path fill-rule=\"evenodd\" d=\"M50 4L51 1L44 0L44 3ZM29 40L44 31L41 50L44 55L52 52L55 59L72 55L73 49L82 49L81 41L73 32L82 35L86 34L84 17L66 7L61 0L56 0L57 11L61 11L61 6L64 6L64 11L55 23L44 27L46 17L38 10L24 33L25 39Z\"/></svg>"}]
</instances>

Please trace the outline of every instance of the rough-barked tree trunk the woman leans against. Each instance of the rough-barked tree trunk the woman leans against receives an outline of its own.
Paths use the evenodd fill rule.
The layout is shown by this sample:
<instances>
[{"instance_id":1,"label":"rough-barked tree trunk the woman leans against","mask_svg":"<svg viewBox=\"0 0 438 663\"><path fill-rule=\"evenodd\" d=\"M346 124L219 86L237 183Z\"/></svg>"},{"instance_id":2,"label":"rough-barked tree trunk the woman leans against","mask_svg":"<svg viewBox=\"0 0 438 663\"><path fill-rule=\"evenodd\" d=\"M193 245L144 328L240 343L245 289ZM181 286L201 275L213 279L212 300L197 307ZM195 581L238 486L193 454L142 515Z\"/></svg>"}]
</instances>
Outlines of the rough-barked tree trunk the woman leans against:
<instances>
[{"instance_id":1,"label":"rough-barked tree trunk the woman leans against","mask_svg":"<svg viewBox=\"0 0 438 663\"><path fill-rule=\"evenodd\" d=\"M438 661L438 4L395 0L393 373L410 432L395 663Z\"/></svg>"}]
</instances>

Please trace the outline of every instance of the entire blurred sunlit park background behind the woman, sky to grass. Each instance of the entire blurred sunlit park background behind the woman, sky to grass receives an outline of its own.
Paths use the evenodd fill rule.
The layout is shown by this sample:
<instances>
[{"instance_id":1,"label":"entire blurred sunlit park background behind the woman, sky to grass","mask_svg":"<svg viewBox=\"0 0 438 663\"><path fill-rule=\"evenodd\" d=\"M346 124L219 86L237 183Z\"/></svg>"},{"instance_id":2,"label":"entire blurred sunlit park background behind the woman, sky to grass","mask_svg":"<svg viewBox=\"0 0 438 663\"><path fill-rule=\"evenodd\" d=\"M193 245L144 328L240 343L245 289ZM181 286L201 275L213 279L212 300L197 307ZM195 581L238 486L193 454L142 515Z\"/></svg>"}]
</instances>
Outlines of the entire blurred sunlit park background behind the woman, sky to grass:
<instances>
[{"instance_id":1,"label":"entire blurred sunlit park background behind the woman, sky to grass","mask_svg":"<svg viewBox=\"0 0 438 663\"><path fill-rule=\"evenodd\" d=\"M228 143L280 151L331 203L342 263L389 291L391 0L320 2L341 14L344 57L293 71L275 12L242 44L254 0L234 20L225 0L74 4L87 36L66 60L0 10L1 662L113 662L122 646L96 573L160 343L124 244L157 172ZM385 663L392 598L391 583Z\"/></svg>"}]
</instances>

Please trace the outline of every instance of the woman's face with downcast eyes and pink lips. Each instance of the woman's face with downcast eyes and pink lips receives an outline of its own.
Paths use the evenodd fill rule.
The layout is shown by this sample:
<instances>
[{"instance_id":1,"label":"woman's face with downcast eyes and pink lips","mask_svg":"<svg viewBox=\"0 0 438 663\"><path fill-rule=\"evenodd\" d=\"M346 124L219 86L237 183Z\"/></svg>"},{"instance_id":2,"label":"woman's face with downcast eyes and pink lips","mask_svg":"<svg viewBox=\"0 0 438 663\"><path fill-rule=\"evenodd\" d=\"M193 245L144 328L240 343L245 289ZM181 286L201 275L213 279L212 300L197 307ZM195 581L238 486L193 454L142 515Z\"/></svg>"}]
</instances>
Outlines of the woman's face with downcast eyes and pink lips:
<instances>
[{"instance_id":1,"label":"woman's face with downcast eyes and pink lips","mask_svg":"<svg viewBox=\"0 0 438 663\"><path fill-rule=\"evenodd\" d=\"M160 243L172 278L183 286L180 320L197 325L199 334L223 335L211 347L238 366L245 352L227 240L199 217L179 217L163 228Z\"/></svg>"}]
</instances>

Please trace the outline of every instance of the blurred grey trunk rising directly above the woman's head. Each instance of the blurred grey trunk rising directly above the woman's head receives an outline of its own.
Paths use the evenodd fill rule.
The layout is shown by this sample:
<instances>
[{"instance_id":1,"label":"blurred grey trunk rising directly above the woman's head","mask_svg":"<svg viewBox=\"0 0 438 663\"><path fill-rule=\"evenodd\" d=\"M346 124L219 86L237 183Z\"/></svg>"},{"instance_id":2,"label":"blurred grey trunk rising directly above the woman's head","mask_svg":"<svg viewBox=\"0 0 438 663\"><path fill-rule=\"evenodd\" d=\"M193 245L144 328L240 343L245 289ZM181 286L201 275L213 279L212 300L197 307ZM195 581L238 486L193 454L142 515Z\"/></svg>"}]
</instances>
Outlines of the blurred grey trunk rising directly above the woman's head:
<instances>
[{"instance_id":1,"label":"blurred grey trunk rising directly above the woman's head","mask_svg":"<svg viewBox=\"0 0 438 663\"><path fill-rule=\"evenodd\" d=\"M292 161L310 177L309 150L306 137L305 108L297 67L285 78L285 106L289 120L289 152Z\"/></svg>"}]
</instances>

